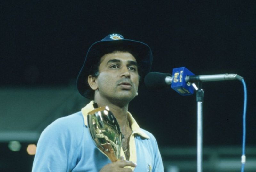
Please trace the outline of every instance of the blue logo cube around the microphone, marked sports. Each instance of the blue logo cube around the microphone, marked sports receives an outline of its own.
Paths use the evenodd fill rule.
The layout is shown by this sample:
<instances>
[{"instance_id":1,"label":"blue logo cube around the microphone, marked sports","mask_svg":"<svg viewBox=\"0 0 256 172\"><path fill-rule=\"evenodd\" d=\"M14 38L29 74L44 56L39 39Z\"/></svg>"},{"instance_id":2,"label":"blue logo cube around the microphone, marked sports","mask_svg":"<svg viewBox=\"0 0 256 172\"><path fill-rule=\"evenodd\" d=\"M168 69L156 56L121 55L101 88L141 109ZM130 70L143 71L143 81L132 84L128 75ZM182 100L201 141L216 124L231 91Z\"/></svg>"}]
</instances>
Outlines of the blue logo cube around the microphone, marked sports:
<instances>
[{"instance_id":1,"label":"blue logo cube around the microphone, marked sports","mask_svg":"<svg viewBox=\"0 0 256 172\"><path fill-rule=\"evenodd\" d=\"M185 67L174 68L172 70L172 89L182 96L191 95L194 93L194 88L191 83L187 83L186 76L195 75Z\"/></svg>"}]
</instances>

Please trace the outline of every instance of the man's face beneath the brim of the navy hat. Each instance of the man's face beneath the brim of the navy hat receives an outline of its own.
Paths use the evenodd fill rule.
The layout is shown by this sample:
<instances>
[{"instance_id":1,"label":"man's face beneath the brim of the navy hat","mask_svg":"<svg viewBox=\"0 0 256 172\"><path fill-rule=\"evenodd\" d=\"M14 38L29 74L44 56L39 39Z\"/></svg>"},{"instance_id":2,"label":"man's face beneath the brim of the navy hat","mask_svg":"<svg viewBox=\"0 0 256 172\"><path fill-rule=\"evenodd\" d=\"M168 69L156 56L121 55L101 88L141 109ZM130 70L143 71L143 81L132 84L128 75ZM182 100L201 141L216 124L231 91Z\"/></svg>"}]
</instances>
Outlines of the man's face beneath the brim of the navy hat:
<instances>
[{"instance_id":1,"label":"man's face beneath the brim of the navy hat","mask_svg":"<svg viewBox=\"0 0 256 172\"><path fill-rule=\"evenodd\" d=\"M129 52L116 51L100 59L97 94L103 99L130 102L139 85L136 59Z\"/></svg>"}]
</instances>

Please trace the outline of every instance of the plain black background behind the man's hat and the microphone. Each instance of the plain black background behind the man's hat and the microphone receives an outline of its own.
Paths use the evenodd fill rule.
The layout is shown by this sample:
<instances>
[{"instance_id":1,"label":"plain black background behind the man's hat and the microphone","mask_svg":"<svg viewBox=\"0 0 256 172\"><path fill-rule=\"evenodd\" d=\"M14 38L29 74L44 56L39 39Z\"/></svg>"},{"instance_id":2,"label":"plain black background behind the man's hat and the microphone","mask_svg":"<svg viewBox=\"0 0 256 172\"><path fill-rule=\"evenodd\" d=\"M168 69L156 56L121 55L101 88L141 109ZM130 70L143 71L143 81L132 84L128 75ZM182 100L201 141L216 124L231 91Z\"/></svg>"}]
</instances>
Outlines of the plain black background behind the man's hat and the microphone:
<instances>
[{"instance_id":1,"label":"plain black background behind the man's hat and the microphone","mask_svg":"<svg viewBox=\"0 0 256 172\"><path fill-rule=\"evenodd\" d=\"M74 84L88 48L110 33L145 42L152 71L235 73L248 89L247 145L255 145L255 1L6 1L1 7L1 87ZM204 146L242 143L239 81L205 82ZM84 100L85 102L87 100ZM160 147L196 145L196 97L140 86L130 112ZM78 109L79 111L79 109ZM63 116L69 114L63 114Z\"/></svg>"}]
</instances>

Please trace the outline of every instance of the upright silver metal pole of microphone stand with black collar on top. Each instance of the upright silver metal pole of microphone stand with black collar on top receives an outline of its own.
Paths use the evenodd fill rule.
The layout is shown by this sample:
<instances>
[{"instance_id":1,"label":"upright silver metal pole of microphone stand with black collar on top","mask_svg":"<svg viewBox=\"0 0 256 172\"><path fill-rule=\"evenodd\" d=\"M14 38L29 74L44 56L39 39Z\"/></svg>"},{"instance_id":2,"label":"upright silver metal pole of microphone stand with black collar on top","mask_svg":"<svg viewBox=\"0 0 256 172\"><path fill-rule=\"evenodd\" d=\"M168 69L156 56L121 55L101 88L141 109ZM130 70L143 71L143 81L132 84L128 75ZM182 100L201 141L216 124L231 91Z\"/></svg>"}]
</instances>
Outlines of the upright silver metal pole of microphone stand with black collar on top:
<instances>
[{"instance_id":1,"label":"upright silver metal pole of microphone stand with black collar on top","mask_svg":"<svg viewBox=\"0 0 256 172\"><path fill-rule=\"evenodd\" d=\"M201 85L201 84L199 84ZM204 90L196 91L197 101L197 172L203 172L203 101Z\"/></svg>"}]
</instances>

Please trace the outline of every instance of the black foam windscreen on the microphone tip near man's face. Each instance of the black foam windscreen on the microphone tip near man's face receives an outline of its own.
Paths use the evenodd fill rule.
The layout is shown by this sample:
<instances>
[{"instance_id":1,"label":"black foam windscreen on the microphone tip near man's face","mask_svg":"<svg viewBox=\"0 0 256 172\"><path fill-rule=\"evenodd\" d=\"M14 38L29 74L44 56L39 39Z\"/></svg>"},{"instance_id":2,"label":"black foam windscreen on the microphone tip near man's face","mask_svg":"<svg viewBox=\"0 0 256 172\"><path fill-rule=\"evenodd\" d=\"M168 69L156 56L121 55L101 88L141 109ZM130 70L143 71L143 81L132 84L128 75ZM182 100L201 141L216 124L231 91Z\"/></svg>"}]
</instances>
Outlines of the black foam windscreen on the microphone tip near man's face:
<instances>
[{"instance_id":1,"label":"black foam windscreen on the microphone tip near man's face","mask_svg":"<svg viewBox=\"0 0 256 172\"><path fill-rule=\"evenodd\" d=\"M146 87L149 89L161 89L168 87L165 82L165 78L167 76L171 76L168 73L160 73L160 72L149 72L144 79Z\"/></svg>"}]
</instances>

